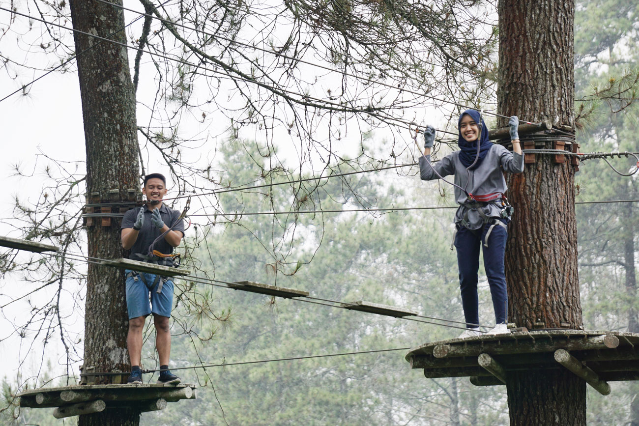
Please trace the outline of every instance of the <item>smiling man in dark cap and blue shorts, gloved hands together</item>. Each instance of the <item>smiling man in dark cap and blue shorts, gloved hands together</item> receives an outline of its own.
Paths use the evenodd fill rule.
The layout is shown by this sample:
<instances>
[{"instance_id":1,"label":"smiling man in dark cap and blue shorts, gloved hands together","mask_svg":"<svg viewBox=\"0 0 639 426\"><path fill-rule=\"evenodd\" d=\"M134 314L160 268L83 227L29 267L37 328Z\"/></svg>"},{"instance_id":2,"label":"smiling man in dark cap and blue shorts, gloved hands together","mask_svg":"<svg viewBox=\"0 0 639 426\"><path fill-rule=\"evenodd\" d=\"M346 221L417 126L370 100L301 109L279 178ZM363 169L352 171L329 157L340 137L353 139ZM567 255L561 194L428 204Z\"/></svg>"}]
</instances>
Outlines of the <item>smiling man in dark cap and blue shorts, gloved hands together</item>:
<instances>
[{"instance_id":1,"label":"smiling man in dark cap and blue shorts, gloved hands together","mask_svg":"<svg viewBox=\"0 0 639 426\"><path fill-rule=\"evenodd\" d=\"M166 266L173 264L172 257L162 257L149 253L153 241L153 250L170 255L174 247L180 245L184 236L184 223L180 212L164 206L162 199L167 194L166 178L160 173L151 173L144 177L142 194L146 196L146 205L131 209L122 218L122 247L131 250L129 258L135 261L147 261ZM178 220L180 219L180 220ZM171 333L169 318L173 305L173 282L166 277L137 271L125 271L127 274L128 309L128 356L131 361L131 374L128 383L142 383L140 361L142 357L142 329L149 314L153 314L155 324L155 347L160 359L160 378L157 383L180 383L180 377L169 370L171 354ZM150 304L149 304L150 299Z\"/></svg>"}]
</instances>

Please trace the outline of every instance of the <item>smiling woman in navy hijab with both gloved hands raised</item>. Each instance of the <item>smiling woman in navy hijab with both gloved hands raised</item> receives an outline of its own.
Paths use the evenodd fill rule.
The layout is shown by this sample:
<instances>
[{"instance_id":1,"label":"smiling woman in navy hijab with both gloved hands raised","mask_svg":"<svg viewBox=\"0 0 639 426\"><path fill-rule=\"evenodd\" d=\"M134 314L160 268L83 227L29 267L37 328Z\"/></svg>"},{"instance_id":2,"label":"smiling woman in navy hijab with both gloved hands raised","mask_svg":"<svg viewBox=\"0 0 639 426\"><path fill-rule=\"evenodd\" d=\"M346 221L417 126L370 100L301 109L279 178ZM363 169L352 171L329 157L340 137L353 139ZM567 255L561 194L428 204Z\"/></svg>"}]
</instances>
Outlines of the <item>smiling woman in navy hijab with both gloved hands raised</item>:
<instances>
[{"instance_id":1,"label":"smiling woman in navy hijab with both gloved hands raised","mask_svg":"<svg viewBox=\"0 0 639 426\"><path fill-rule=\"evenodd\" d=\"M479 112L465 110L458 121L459 151L450 153L436 164L430 162L435 128L427 126L424 131L424 156L419 158L420 178L429 181L450 174L455 176L455 200L459 208L455 213L453 244L457 248L461 304L466 318L466 330L459 336L461 339L481 334L477 298L480 247L484 253L484 268L497 324L488 334L508 332L504 253L510 210L504 202L507 186L502 170L523 172L518 126L518 118L512 116L509 127L514 152L511 153L504 146L488 140L488 129Z\"/></svg>"}]
</instances>

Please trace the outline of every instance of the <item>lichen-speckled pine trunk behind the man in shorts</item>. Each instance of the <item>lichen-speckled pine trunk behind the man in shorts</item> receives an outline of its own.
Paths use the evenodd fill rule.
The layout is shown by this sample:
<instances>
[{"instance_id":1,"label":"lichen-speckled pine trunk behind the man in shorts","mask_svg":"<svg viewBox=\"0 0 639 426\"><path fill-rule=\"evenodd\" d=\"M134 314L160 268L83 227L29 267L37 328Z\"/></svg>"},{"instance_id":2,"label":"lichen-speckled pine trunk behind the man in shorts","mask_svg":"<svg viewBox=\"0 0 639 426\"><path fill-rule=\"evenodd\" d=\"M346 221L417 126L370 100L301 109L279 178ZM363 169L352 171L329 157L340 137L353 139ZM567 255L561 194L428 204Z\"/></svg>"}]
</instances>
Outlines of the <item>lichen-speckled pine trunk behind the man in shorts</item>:
<instances>
[{"instance_id":1,"label":"lichen-speckled pine trunk behind the man in shorts","mask_svg":"<svg viewBox=\"0 0 639 426\"><path fill-rule=\"evenodd\" d=\"M121 1L114 3L122 4ZM122 10L107 4L72 0L73 28L109 37L125 26ZM109 190L117 189L113 201L126 201L127 190L139 188L135 92L131 81L127 49L74 34L84 137L86 143L87 192L113 200ZM125 31L110 36L126 43ZM82 52L89 46L95 46ZM102 259L123 256L119 220L111 226L87 228L88 254ZM123 272L89 263L84 316L84 366L95 371L127 372L127 304ZM108 383L103 379L96 384ZM127 409L80 416L79 425L138 425L139 413Z\"/></svg>"}]
</instances>

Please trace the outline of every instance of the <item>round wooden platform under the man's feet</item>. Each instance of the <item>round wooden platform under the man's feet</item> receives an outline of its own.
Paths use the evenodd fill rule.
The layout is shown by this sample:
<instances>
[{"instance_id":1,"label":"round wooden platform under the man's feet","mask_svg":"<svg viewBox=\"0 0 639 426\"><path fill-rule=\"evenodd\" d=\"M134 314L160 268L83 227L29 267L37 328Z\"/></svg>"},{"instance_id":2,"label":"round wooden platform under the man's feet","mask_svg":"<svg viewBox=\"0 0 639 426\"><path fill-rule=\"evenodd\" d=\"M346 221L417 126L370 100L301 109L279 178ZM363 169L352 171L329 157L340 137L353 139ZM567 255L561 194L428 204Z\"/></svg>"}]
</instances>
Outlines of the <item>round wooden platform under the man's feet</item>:
<instances>
[{"instance_id":1,"label":"round wooden platform under the man's feet","mask_svg":"<svg viewBox=\"0 0 639 426\"><path fill-rule=\"evenodd\" d=\"M139 412L164 409L167 402L196 399L195 384L89 384L40 388L20 393L20 407L56 407L53 416L64 418L99 413L109 408Z\"/></svg>"}]
</instances>

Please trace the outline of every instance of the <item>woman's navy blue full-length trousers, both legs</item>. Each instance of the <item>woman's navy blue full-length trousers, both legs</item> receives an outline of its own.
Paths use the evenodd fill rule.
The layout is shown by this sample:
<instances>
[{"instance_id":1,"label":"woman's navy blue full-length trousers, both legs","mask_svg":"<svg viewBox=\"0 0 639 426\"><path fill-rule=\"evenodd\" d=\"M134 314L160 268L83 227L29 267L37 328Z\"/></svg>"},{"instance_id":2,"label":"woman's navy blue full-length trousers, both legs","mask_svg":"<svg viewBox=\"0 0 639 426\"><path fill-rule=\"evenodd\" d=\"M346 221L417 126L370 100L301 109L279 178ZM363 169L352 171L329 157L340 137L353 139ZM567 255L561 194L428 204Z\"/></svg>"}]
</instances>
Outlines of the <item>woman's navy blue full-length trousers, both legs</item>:
<instances>
[{"instance_id":1,"label":"woman's navy blue full-length trousers, both legs","mask_svg":"<svg viewBox=\"0 0 639 426\"><path fill-rule=\"evenodd\" d=\"M495 322L497 324L506 322L508 293L504 273L504 254L508 232L504 227L496 225L488 238L488 247L484 247L484 238L490 226L490 222L480 229L473 230L458 226L455 236L461 305L464 308L466 323L469 324L479 324L479 298L477 298L479 247L484 252L484 269L486 269L490 294L493 298ZM466 327L471 326L467 324Z\"/></svg>"}]
</instances>

